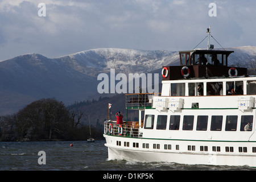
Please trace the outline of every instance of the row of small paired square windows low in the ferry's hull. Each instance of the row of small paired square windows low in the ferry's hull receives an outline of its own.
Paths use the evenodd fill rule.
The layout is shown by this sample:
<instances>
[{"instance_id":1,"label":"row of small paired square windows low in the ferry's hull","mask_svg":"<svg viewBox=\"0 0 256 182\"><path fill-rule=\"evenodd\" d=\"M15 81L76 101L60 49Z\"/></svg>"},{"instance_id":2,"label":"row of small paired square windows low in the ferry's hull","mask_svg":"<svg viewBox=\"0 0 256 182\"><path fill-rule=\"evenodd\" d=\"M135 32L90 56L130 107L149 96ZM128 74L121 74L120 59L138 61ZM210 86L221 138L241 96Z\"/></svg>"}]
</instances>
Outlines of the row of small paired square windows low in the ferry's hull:
<instances>
[{"instance_id":1,"label":"row of small paired square windows low in the ferry's hull","mask_svg":"<svg viewBox=\"0 0 256 182\"><path fill-rule=\"evenodd\" d=\"M121 146L121 141L117 140L117 146ZM130 147L130 142L124 142L123 146ZM139 148L139 143L133 142L134 148ZM149 143L142 143L142 148L149 148ZM160 149L160 144L154 143L153 149ZM178 144L175 146L176 150L179 150L180 147ZM164 144L164 150L172 150L171 144ZM196 151L196 146L188 145L188 151ZM208 151L208 146L200 146L200 151ZM220 146L212 146L213 152L220 152ZM225 147L226 152L234 152L234 147ZM247 147L238 147L238 152L247 152ZM256 152L256 147L252 147L252 152Z\"/></svg>"}]
</instances>

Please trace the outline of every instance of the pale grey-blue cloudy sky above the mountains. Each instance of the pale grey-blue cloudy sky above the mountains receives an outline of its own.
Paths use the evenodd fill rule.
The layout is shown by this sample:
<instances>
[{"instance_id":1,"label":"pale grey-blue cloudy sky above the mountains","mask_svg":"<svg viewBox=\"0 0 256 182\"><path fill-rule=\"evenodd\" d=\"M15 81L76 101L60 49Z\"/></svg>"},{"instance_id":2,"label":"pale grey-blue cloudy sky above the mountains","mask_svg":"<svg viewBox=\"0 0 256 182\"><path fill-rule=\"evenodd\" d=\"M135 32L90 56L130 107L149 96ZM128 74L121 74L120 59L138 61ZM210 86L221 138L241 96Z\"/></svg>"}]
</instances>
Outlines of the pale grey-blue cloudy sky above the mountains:
<instances>
[{"instance_id":1,"label":"pale grey-blue cloudy sky above the mountains","mask_svg":"<svg viewBox=\"0 0 256 182\"><path fill-rule=\"evenodd\" d=\"M209 26L222 47L256 46L255 0L0 0L0 23L0 60L94 48L187 50ZM206 47L207 39L198 48Z\"/></svg>"}]
</instances>

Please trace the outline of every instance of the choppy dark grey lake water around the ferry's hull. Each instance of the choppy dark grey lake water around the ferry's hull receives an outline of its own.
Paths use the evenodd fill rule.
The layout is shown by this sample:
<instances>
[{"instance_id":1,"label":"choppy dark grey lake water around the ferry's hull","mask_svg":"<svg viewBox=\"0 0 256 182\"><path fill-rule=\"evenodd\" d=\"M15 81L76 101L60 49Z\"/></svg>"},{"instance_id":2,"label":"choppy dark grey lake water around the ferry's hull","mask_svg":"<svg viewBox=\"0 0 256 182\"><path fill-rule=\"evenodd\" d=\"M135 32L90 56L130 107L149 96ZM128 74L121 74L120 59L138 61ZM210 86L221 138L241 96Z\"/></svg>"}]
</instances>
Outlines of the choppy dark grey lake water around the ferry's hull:
<instances>
[{"instance_id":1,"label":"choppy dark grey lake water around the ferry's hull","mask_svg":"<svg viewBox=\"0 0 256 182\"><path fill-rule=\"evenodd\" d=\"M70 147L69 144L73 144ZM176 163L138 163L108 160L105 141L0 142L0 170L7 171L226 171L256 170L250 167L184 165ZM39 164L39 151L46 152L46 164Z\"/></svg>"}]
</instances>

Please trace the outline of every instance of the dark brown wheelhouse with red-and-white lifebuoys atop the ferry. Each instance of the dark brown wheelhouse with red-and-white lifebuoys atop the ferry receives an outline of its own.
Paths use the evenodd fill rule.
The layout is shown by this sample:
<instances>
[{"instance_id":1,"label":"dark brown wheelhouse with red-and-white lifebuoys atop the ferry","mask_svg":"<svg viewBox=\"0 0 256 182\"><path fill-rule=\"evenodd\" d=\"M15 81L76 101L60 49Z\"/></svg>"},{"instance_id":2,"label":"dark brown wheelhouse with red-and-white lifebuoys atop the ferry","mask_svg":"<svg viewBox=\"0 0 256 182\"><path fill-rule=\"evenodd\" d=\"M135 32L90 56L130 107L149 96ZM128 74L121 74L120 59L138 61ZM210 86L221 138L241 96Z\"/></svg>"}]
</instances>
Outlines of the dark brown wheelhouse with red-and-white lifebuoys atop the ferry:
<instances>
[{"instance_id":1,"label":"dark brown wheelhouse with red-and-white lifebuoys atop the ferry","mask_svg":"<svg viewBox=\"0 0 256 182\"><path fill-rule=\"evenodd\" d=\"M228 56L232 52L205 49L180 51L180 66L163 67L163 80L247 75L246 68L228 66Z\"/></svg>"}]
</instances>

